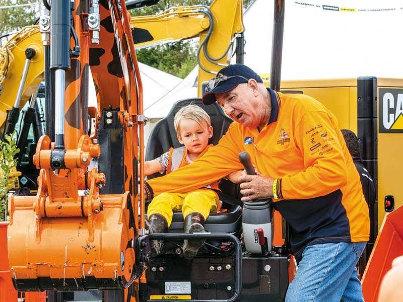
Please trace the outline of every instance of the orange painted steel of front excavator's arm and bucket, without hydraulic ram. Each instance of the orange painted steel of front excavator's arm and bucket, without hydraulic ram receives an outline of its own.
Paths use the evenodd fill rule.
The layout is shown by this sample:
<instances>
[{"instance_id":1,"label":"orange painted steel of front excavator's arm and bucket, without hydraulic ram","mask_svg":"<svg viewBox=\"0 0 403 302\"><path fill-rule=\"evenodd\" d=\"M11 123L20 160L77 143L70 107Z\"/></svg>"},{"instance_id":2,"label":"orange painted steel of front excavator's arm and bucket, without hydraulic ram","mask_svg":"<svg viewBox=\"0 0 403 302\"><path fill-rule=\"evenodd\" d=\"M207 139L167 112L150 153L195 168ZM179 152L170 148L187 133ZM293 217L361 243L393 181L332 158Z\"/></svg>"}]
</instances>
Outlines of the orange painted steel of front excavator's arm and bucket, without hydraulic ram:
<instances>
[{"instance_id":1,"label":"orange painted steel of front excavator's arm and bucket, without hydraulic ram","mask_svg":"<svg viewBox=\"0 0 403 302\"><path fill-rule=\"evenodd\" d=\"M37 195L9 197L9 261L17 289L118 289L130 286L144 271L135 261L138 145L133 125L139 114L137 96L142 100L140 72L124 2L99 6L99 14L102 39L94 45L88 27L82 26L88 8L75 0L74 29L81 51L65 74L65 148L55 149L54 142L42 136L34 157L41 169ZM74 44L71 39L71 47ZM90 50L99 54L92 62ZM99 145L85 134L90 67L98 101L98 112L91 114L116 109L122 126L124 167L116 169L122 174L124 169L125 178L119 194L100 195L105 182L113 180L96 168L88 171L91 160L100 156ZM88 195L79 191L85 189ZM144 216L142 221L144 228Z\"/></svg>"}]
</instances>

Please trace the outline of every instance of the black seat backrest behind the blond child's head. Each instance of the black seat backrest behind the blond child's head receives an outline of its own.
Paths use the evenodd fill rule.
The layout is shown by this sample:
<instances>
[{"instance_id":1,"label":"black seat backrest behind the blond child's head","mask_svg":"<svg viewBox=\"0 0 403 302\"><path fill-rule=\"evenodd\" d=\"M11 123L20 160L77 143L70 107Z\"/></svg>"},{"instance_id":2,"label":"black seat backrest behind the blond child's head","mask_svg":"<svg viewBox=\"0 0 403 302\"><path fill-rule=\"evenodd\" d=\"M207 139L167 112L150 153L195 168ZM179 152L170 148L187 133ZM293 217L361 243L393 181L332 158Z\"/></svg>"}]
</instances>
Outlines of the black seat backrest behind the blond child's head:
<instances>
[{"instance_id":1,"label":"black seat backrest behind the blond child's head","mask_svg":"<svg viewBox=\"0 0 403 302\"><path fill-rule=\"evenodd\" d=\"M225 115L223 109L217 103L206 106L201 102L201 98L178 101L172 106L168 115L159 120L151 130L146 149L146 161L158 158L163 153L167 152L170 147L177 148L182 146L176 136L173 120L176 112L178 112L180 108L190 104L200 106L210 115L213 126L213 136L209 139L209 143L214 145L217 144L221 136L227 132L228 127L233 122L231 118ZM160 173L155 173L148 176L148 178L152 179L159 176L162 175ZM238 185L235 185L230 181L222 180L220 188L231 197L238 198Z\"/></svg>"}]
</instances>

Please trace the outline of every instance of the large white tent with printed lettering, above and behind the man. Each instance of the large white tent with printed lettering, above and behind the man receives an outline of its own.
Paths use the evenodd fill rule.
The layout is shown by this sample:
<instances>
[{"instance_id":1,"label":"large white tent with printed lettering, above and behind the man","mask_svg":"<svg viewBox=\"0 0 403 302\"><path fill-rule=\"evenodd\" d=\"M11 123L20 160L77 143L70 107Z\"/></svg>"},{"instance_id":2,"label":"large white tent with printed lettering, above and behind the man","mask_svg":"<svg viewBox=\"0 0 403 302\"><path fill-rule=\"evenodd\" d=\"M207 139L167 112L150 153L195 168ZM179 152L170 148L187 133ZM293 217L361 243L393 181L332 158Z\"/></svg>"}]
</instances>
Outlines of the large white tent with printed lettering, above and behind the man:
<instances>
[{"instance_id":1,"label":"large white tent with printed lettering, above and behind the man","mask_svg":"<svg viewBox=\"0 0 403 302\"><path fill-rule=\"evenodd\" d=\"M282 80L401 78L403 5L397 0L285 2ZM244 63L269 73L273 1L245 12Z\"/></svg>"}]
</instances>

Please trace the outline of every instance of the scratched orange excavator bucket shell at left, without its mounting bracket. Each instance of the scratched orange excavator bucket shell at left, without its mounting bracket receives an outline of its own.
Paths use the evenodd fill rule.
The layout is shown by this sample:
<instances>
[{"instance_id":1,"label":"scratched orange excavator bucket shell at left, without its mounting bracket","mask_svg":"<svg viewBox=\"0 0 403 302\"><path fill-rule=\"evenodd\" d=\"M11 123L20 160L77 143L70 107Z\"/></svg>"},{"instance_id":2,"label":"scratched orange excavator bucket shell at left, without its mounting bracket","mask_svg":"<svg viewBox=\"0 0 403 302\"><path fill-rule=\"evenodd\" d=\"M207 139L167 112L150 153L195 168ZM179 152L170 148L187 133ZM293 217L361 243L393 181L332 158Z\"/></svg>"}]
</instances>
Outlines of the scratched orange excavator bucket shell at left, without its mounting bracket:
<instances>
[{"instance_id":1,"label":"scratched orange excavator bucket shell at left, without its mounting bracket","mask_svg":"<svg viewBox=\"0 0 403 302\"><path fill-rule=\"evenodd\" d=\"M134 222L129 221L131 201L128 193L100 199L103 210L92 215L92 221L88 216L42 217L37 223L35 196L9 198L9 261L17 290L127 286L135 262L129 239L133 234L127 234L135 231L134 225L128 226Z\"/></svg>"}]
</instances>

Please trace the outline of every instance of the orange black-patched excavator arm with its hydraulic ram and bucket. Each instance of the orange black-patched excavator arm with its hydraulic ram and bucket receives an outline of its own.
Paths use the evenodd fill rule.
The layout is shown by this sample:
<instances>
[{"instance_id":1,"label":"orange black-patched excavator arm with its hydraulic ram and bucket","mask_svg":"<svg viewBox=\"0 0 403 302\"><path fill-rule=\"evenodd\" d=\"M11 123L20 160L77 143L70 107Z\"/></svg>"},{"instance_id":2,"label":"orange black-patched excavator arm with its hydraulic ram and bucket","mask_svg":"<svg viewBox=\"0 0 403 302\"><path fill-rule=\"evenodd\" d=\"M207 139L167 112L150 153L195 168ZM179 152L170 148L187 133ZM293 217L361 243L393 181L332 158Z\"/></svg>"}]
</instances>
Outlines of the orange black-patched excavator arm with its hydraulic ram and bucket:
<instances>
[{"instance_id":1,"label":"orange black-patched excavator arm with its hydraulic ram and bucket","mask_svg":"<svg viewBox=\"0 0 403 302\"><path fill-rule=\"evenodd\" d=\"M60 0L45 16L55 134L37 144L37 195L8 200L13 283L22 291L126 288L147 257L144 206L140 225L137 213L142 85L129 15L115 0ZM98 103L93 139L89 68Z\"/></svg>"}]
</instances>

